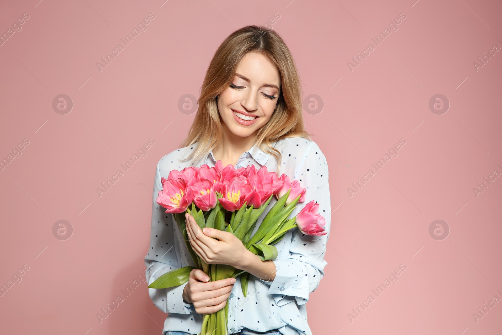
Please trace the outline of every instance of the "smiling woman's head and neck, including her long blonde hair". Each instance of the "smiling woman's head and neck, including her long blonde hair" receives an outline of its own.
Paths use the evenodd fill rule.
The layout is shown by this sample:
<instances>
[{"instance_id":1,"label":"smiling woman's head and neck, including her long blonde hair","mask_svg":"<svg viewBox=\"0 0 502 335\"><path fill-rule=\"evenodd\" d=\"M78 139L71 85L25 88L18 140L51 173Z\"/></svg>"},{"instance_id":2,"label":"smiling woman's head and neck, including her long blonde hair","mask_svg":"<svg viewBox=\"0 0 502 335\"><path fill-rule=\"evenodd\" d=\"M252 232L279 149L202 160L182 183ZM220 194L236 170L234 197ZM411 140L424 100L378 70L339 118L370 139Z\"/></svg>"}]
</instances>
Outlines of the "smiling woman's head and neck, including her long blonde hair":
<instances>
[{"instance_id":1,"label":"smiling woman's head and neck, including her long blonde hair","mask_svg":"<svg viewBox=\"0 0 502 335\"><path fill-rule=\"evenodd\" d=\"M280 159L273 143L285 137L310 137L293 56L276 31L240 28L214 53L195 120L181 146L198 142L187 159L197 161L212 149L225 166L255 144Z\"/></svg>"}]
</instances>

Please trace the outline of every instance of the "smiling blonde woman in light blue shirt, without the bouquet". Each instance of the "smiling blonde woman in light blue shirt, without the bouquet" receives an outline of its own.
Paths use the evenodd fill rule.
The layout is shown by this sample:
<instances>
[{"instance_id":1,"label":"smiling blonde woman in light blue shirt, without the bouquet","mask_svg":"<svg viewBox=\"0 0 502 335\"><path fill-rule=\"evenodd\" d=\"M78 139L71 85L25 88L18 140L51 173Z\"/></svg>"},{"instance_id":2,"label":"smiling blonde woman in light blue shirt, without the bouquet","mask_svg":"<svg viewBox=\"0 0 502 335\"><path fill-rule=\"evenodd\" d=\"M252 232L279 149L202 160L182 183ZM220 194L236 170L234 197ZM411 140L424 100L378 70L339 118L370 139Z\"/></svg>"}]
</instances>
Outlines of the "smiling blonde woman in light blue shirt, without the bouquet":
<instances>
[{"instance_id":1,"label":"smiling blonde woman in light blue shirt, without the bouquet","mask_svg":"<svg viewBox=\"0 0 502 335\"><path fill-rule=\"evenodd\" d=\"M154 304L169 313L163 334L198 334L203 314L223 308L227 300L229 334L312 334L305 303L324 276L331 207L326 158L304 131L301 102L293 58L276 32L243 27L228 36L214 54L187 139L181 149L167 154L157 165L151 245L145 257L149 284L168 271L195 266L173 215L156 202L161 178L167 178L173 169L214 167L221 160L223 166L231 164L236 169L254 164L279 176L285 173L307 189L305 201L297 204L290 217L315 200L326 220L327 234L304 235L294 228L275 245L278 257L262 261L231 233L202 232L186 214L190 244L206 263L228 264L252 275L245 298L239 280L209 282L199 269L193 269L183 285L150 288ZM269 206L276 201L273 197Z\"/></svg>"}]
</instances>

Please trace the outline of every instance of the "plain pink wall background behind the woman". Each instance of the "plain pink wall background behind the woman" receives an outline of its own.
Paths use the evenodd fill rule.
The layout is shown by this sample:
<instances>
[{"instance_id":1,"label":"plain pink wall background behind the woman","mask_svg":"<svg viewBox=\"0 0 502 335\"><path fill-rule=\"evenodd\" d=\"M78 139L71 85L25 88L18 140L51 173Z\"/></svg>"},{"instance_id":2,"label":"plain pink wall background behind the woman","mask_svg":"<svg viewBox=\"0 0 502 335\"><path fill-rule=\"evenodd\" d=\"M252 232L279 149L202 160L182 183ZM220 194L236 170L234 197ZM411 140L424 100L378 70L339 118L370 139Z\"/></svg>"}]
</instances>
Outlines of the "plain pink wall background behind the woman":
<instances>
[{"instance_id":1,"label":"plain pink wall background behind the woman","mask_svg":"<svg viewBox=\"0 0 502 335\"><path fill-rule=\"evenodd\" d=\"M0 5L0 33L29 15L0 46L0 159L29 141L0 172L0 284L29 266L0 297L2 333L161 333L166 314L145 283L101 323L96 314L144 274L155 167L178 148L197 107L180 110L179 99L199 96L231 32L266 23L297 62L306 127L330 172L328 265L307 304L313 333L502 332L502 302L473 316L502 299L502 178L473 191L502 173L502 52L473 65L502 47L500 2L164 1ZM100 71L96 62L149 13L148 29ZM371 39L400 13L406 19L376 46ZM369 43L375 49L351 71ZM53 108L59 94L73 101L70 113ZM446 113L429 108L435 94L448 99ZM147 155L99 196L150 138ZM351 196L400 139L398 156ZM53 233L61 219L73 229L66 240ZM438 219L449 234L436 240L429 226ZM374 295L400 264L399 280ZM353 313L368 295L374 301Z\"/></svg>"}]
</instances>

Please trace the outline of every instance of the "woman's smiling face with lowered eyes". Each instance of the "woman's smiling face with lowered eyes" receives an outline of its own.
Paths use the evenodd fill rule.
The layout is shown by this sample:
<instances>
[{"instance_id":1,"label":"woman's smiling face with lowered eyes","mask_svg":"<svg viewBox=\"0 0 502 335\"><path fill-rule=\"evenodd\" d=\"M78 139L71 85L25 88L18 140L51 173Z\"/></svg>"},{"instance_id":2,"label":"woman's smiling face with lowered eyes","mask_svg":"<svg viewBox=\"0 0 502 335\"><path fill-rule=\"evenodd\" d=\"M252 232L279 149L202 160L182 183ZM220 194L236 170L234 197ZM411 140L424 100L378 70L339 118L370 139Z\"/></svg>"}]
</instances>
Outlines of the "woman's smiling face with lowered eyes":
<instances>
[{"instance_id":1,"label":"woman's smiling face with lowered eyes","mask_svg":"<svg viewBox=\"0 0 502 335\"><path fill-rule=\"evenodd\" d=\"M280 81L279 70L269 58L257 52L244 54L232 83L218 96L223 128L239 137L248 137L262 128L276 108Z\"/></svg>"}]
</instances>

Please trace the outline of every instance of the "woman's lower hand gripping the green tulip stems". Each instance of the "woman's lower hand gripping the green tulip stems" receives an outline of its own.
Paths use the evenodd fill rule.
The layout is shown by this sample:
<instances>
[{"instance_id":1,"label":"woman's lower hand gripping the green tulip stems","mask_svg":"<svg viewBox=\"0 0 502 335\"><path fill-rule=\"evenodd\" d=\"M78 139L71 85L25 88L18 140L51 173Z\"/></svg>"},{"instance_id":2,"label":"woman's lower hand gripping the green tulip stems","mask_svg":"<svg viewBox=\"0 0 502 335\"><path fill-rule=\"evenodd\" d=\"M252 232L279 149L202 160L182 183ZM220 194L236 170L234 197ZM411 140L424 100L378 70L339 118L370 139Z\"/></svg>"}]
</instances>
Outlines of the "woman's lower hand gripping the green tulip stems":
<instances>
[{"instance_id":1,"label":"woman's lower hand gripping the green tulip stems","mask_svg":"<svg viewBox=\"0 0 502 335\"><path fill-rule=\"evenodd\" d=\"M209 276L204 271L192 269L188 284L183 289L183 299L192 303L199 314L212 314L225 307L235 282L235 278L208 280Z\"/></svg>"}]
</instances>

